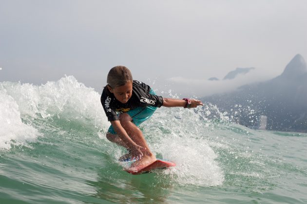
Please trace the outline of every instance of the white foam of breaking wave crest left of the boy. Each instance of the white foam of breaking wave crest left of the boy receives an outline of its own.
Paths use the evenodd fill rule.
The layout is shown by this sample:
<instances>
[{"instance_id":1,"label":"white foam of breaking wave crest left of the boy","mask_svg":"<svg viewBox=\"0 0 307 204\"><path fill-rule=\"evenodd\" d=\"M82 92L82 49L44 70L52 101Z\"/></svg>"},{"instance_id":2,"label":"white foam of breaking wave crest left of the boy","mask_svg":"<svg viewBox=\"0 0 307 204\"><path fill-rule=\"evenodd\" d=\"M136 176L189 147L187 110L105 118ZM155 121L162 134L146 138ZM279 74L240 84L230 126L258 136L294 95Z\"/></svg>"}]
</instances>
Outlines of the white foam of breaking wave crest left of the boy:
<instances>
[{"instance_id":1,"label":"white foam of breaking wave crest left of the boy","mask_svg":"<svg viewBox=\"0 0 307 204\"><path fill-rule=\"evenodd\" d=\"M0 83L0 147L9 149L12 140L24 142L34 139L38 131L22 123L23 117L49 117L91 120L96 128L107 129L110 124L103 112L100 95L73 76L44 85Z\"/></svg>"}]
</instances>

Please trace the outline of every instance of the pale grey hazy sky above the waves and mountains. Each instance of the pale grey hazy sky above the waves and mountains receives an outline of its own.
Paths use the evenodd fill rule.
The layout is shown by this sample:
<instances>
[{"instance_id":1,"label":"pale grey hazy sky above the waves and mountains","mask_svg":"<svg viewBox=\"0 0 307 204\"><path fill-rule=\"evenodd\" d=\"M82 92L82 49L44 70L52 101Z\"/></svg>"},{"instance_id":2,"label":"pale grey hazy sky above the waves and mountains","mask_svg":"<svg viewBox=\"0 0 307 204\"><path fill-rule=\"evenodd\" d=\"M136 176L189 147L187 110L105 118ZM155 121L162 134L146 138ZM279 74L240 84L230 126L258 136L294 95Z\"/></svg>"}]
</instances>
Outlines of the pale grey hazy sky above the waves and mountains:
<instances>
[{"instance_id":1,"label":"pale grey hazy sky above the waves and mountains","mask_svg":"<svg viewBox=\"0 0 307 204\"><path fill-rule=\"evenodd\" d=\"M306 0L0 0L0 82L73 75L101 93L124 65L158 91L202 97L276 77L298 53Z\"/></svg>"}]
</instances>

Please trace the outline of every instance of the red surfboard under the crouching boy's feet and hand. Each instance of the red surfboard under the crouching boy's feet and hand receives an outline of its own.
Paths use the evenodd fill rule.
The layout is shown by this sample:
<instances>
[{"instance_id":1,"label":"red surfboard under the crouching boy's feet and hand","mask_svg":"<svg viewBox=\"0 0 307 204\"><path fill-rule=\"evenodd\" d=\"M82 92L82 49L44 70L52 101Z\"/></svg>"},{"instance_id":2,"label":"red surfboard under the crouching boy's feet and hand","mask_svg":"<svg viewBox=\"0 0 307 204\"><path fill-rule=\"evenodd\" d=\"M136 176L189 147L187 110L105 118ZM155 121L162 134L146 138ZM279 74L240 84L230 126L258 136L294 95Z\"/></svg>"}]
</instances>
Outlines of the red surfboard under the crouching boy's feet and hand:
<instances>
[{"instance_id":1,"label":"red surfboard under the crouching boy's feet and hand","mask_svg":"<svg viewBox=\"0 0 307 204\"><path fill-rule=\"evenodd\" d=\"M174 166L176 166L176 164L174 162L166 161L166 160L163 160L163 159L157 159L156 161L154 161L150 165L142 167L140 169L136 168L134 170L130 170L129 168L127 168L127 169L124 169L124 170L127 171L128 173L136 175L136 174L148 173L148 172L151 172L152 170L155 170L155 169L166 169L166 168L174 167Z\"/></svg>"}]
</instances>

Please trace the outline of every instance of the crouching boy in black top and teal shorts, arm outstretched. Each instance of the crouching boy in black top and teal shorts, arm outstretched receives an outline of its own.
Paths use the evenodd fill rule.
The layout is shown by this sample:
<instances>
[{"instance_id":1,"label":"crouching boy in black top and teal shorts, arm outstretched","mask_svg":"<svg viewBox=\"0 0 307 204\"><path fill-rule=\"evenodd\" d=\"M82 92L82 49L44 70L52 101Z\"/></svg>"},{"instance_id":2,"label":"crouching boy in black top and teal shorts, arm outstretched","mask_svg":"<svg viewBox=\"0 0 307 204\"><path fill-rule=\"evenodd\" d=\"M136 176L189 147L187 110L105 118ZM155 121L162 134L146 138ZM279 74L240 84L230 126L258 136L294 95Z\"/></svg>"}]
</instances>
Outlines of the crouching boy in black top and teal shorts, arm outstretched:
<instances>
[{"instance_id":1,"label":"crouching boy in black top and teal shorts, arm outstretched","mask_svg":"<svg viewBox=\"0 0 307 204\"><path fill-rule=\"evenodd\" d=\"M100 101L111 122L106 137L128 150L119 160L136 159L131 169L156 161L138 126L149 119L158 107L195 108L203 105L195 99L157 96L149 85L133 80L130 70L124 66L116 66L109 71Z\"/></svg>"}]
</instances>

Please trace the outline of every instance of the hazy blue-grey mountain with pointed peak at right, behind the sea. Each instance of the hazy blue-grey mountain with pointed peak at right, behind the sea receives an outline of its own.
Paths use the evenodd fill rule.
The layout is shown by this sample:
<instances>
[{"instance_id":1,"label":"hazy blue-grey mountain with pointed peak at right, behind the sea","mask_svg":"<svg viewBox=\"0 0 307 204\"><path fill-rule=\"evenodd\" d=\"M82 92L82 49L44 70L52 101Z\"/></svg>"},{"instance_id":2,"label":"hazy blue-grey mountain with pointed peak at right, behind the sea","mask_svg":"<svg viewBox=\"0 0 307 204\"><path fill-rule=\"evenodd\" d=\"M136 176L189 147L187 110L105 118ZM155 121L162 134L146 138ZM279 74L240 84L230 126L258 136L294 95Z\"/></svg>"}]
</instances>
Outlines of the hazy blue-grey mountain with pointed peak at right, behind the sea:
<instances>
[{"instance_id":1,"label":"hazy blue-grey mountain with pointed peak at right, behind the sea","mask_svg":"<svg viewBox=\"0 0 307 204\"><path fill-rule=\"evenodd\" d=\"M306 62L297 54L280 76L203 101L216 104L242 125L257 128L263 115L267 117L267 129L307 132Z\"/></svg>"}]
</instances>

